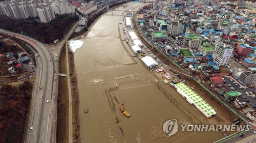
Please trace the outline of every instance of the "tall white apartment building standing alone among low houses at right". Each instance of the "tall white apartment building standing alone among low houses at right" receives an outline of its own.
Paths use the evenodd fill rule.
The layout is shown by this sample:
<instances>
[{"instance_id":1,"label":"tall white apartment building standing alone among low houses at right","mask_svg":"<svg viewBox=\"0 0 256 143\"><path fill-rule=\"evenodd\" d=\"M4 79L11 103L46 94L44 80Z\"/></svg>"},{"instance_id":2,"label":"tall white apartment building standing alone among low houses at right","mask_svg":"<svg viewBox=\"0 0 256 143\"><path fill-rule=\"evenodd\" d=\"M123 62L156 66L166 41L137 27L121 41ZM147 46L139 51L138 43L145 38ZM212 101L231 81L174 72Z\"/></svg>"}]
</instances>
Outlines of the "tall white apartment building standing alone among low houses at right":
<instances>
[{"instance_id":1,"label":"tall white apartment building standing alone among low houses at right","mask_svg":"<svg viewBox=\"0 0 256 143\"><path fill-rule=\"evenodd\" d=\"M226 47L225 44L219 44L217 45L217 48L212 54L212 59L218 66L226 66L230 59L232 51L233 48Z\"/></svg>"}]
</instances>

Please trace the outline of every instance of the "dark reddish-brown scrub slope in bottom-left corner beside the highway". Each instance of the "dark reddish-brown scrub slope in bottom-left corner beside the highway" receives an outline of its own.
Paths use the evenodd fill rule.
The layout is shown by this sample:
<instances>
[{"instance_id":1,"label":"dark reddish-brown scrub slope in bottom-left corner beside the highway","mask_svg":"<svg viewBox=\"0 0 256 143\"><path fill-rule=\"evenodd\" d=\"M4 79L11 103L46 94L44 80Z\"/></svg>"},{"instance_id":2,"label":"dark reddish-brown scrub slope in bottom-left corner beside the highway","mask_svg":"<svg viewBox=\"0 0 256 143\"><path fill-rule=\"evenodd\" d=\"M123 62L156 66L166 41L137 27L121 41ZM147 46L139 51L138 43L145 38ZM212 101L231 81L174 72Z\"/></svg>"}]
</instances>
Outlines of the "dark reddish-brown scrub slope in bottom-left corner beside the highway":
<instances>
[{"instance_id":1,"label":"dark reddish-brown scrub slope in bottom-left corner beside the highway","mask_svg":"<svg viewBox=\"0 0 256 143\"><path fill-rule=\"evenodd\" d=\"M0 142L23 142L34 79L0 78Z\"/></svg>"}]
</instances>

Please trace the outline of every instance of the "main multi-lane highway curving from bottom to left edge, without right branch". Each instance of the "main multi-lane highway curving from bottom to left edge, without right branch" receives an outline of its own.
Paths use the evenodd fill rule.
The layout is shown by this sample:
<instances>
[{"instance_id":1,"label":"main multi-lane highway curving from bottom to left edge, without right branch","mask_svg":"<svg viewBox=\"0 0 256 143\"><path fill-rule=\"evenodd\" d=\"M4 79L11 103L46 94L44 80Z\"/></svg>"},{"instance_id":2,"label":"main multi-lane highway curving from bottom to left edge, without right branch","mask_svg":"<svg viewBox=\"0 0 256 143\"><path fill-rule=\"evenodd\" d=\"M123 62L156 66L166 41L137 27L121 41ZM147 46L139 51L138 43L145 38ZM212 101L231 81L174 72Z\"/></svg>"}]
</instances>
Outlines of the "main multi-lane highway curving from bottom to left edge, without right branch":
<instances>
[{"instance_id":1,"label":"main multi-lane highway curving from bottom to left edge, without right branch","mask_svg":"<svg viewBox=\"0 0 256 143\"><path fill-rule=\"evenodd\" d=\"M56 127L53 126L53 122L56 122L55 108L57 107L57 98L55 97L56 95L52 95L52 93L55 93L56 90L56 82L54 82L55 80L53 80L53 78L54 76L57 77L58 74L57 72L54 73L54 69L56 69L57 64L54 66L49 51L44 47L43 44L35 39L28 39L27 36L4 30L0 30L0 32L6 33L9 36L16 37L29 43L37 52L35 53L35 61L37 63L37 78L32 92L29 119L27 122L27 129L25 130L26 137L24 141L56 142L56 132L53 134L52 131L56 130ZM39 89L39 85L42 86L41 90ZM40 98L41 95L43 96L42 98ZM47 100L49 100L49 103L47 103ZM30 130L31 127L33 127L33 131Z\"/></svg>"}]
</instances>

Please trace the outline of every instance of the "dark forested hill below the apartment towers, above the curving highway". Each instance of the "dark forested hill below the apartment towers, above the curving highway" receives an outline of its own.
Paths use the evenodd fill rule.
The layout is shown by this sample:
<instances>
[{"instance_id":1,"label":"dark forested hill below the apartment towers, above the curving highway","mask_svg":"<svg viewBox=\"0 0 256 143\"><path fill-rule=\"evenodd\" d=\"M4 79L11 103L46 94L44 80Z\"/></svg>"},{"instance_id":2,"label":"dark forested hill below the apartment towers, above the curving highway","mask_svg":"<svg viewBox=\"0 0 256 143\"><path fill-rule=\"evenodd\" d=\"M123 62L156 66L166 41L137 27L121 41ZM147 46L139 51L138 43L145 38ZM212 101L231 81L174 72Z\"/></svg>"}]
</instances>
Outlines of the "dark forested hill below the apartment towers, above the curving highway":
<instances>
[{"instance_id":1,"label":"dark forested hill below the apartment towers, above the curving highway","mask_svg":"<svg viewBox=\"0 0 256 143\"><path fill-rule=\"evenodd\" d=\"M25 20L0 16L0 28L16 33L23 33L42 43L49 44L56 39L62 39L72 24L78 20L79 17L77 15L56 15L56 18L49 23L41 23L33 18Z\"/></svg>"}]
</instances>

